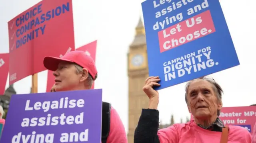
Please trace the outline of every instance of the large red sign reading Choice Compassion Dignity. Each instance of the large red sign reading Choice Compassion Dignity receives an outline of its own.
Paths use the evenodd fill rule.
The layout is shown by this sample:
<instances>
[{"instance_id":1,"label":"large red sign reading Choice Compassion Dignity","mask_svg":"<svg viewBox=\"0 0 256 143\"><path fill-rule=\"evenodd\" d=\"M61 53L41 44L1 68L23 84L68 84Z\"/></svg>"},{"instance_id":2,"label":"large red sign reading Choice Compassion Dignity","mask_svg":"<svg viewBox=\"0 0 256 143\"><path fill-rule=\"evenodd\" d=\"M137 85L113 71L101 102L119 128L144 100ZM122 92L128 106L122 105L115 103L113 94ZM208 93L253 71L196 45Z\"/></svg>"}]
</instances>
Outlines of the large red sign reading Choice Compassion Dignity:
<instances>
[{"instance_id":1,"label":"large red sign reading Choice Compassion Dignity","mask_svg":"<svg viewBox=\"0 0 256 143\"><path fill-rule=\"evenodd\" d=\"M42 0L8 22L10 84L44 71L45 56L74 48L72 0Z\"/></svg>"}]
</instances>

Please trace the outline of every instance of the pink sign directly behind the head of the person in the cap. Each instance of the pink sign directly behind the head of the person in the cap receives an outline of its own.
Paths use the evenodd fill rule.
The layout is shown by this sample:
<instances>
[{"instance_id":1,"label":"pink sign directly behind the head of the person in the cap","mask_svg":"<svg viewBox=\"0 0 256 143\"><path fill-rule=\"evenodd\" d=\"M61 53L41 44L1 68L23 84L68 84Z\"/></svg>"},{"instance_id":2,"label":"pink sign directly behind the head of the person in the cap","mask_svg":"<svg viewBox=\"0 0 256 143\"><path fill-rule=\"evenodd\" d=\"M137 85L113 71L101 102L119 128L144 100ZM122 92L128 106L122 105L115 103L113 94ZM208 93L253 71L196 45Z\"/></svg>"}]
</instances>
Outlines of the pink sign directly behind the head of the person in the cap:
<instances>
[{"instance_id":1,"label":"pink sign directly behind the head of the person in the cap","mask_svg":"<svg viewBox=\"0 0 256 143\"><path fill-rule=\"evenodd\" d=\"M97 47L97 40L96 41L93 41L91 43L88 43L76 50L79 50L79 51L84 51L86 54L90 55L92 57L92 59L94 60L95 62L95 59L96 59L96 47ZM73 51L72 50L69 50L69 51ZM69 52L67 51L67 52ZM67 53L66 52L66 53ZM62 57L62 55L60 55L60 57ZM54 80L55 80L55 77L53 76L53 71L49 71L48 70L48 76L47 76L47 86L46 86L46 92L50 92L52 86L54 85ZM94 89L94 82L92 84L92 88L91 89Z\"/></svg>"}]
</instances>

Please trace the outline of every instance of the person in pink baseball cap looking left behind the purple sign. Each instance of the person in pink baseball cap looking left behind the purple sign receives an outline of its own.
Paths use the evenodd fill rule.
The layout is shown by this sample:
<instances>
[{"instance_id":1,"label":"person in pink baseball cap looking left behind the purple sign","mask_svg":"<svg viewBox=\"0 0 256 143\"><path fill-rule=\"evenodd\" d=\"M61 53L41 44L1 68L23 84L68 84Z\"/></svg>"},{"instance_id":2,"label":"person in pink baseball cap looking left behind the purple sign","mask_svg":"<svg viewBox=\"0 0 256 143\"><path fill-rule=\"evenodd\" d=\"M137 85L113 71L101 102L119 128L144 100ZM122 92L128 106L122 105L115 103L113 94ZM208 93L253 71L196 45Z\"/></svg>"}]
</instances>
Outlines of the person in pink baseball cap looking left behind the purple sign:
<instances>
[{"instance_id":1,"label":"person in pink baseball cap looking left behind the purple sign","mask_svg":"<svg viewBox=\"0 0 256 143\"><path fill-rule=\"evenodd\" d=\"M44 66L54 71L51 92L89 90L98 72L92 57L84 51L71 51L63 57L45 57ZM102 143L127 143L124 125L110 103L102 102Z\"/></svg>"}]
</instances>

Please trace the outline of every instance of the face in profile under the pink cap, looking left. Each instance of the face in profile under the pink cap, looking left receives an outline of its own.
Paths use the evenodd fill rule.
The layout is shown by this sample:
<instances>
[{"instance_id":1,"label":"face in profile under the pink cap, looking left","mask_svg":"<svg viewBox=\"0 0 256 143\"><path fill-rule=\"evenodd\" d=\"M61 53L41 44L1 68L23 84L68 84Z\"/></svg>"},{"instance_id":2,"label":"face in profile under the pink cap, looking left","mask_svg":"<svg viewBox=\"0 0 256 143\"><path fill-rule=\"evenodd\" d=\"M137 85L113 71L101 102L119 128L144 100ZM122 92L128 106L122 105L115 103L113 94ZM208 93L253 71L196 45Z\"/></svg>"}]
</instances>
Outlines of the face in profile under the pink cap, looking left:
<instances>
[{"instance_id":1,"label":"face in profile under the pink cap, looking left","mask_svg":"<svg viewBox=\"0 0 256 143\"><path fill-rule=\"evenodd\" d=\"M72 63L61 62L53 74L56 91L74 90L80 83L81 74L77 73L76 67Z\"/></svg>"}]
</instances>

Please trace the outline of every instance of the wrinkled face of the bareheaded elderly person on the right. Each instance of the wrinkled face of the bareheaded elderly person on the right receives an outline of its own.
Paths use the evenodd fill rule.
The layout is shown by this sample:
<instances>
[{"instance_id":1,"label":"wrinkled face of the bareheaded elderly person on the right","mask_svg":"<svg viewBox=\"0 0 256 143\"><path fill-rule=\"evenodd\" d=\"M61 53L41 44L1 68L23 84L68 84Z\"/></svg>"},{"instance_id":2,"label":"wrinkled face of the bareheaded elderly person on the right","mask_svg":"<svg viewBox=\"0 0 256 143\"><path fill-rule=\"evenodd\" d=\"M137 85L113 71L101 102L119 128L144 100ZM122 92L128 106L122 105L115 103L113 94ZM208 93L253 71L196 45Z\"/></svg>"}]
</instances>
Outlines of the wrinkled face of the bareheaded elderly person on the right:
<instances>
[{"instance_id":1,"label":"wrinkled face of the bareheaded elderly person on the right","mask_svg":"<svg viewBox=\"0 0 256 143\"><path fill-rule=\"evenodd\" d=\"M219 102L214 85L210 82L197 79L191 82L188 87L188 109L196 118L208 118L217 116L217 110L222 108Z\"/></svg>"}]
</instances>

